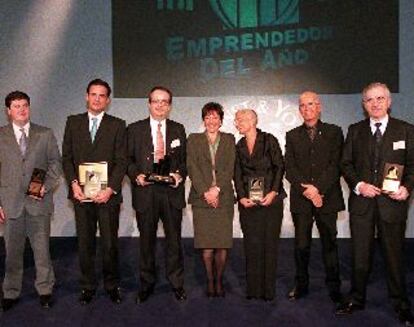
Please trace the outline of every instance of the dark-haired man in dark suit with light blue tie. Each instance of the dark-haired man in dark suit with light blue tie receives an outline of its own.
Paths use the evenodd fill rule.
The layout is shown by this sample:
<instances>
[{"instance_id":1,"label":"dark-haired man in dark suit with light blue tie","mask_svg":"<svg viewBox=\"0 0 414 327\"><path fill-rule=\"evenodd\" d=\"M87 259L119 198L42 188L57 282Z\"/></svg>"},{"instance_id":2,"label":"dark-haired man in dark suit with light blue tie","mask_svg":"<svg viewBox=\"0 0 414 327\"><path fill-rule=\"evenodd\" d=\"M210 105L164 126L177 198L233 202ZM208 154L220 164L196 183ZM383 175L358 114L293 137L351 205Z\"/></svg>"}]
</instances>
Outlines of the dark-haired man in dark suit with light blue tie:
<instances>
[{"instance_id":1,"label":"dark-haired man in dark suit with light blue tie","mask_svg":"<svg viewBox=\"0 0 414 327\"><path fill-rule=\"evenodd\" d=\"M118 226L122 202L122 180L127 169L125 122L105 113L110 103L108 83L95 79L86 90L87 112L69 116L63 139L63 170L69 184L69 198L75 208L81 268L80 303L92 301L97 287L95 276L96 227L103 256L104 287L114 303L121 303L118 273ZM79 165L108 163L108 184L89 202L79 184Z\"/></svg>"}]
</instances>

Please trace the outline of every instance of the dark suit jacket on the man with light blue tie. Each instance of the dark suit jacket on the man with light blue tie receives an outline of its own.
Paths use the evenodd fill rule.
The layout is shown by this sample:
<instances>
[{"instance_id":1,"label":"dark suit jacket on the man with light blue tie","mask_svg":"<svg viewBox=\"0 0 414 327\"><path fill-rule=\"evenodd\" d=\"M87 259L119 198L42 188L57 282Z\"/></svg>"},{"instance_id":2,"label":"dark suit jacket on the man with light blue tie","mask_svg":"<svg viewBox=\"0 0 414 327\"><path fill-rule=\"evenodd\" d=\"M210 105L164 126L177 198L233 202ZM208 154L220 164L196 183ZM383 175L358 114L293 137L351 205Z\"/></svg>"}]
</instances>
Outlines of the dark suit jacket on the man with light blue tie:
<instances>
[{"instance_id":1,"label":"dark suit jacket on the man with light blue tie","mask_svg":"<svg viewBox=\"0 0 414 327\"><path fill-rule=\"evenodd\" d=\"M108 204L122 202L122 180L127 169L127 143L125 121L104 114L99 129L92 139L89 132L88 113L69 116L66 121L63 137L62 157L63 171L69 184L69 198L73 198L73 180L79 180L79 164L83 162L108 162L108 186L116 194L112 195Z\"/></svg>"}]
</instances>

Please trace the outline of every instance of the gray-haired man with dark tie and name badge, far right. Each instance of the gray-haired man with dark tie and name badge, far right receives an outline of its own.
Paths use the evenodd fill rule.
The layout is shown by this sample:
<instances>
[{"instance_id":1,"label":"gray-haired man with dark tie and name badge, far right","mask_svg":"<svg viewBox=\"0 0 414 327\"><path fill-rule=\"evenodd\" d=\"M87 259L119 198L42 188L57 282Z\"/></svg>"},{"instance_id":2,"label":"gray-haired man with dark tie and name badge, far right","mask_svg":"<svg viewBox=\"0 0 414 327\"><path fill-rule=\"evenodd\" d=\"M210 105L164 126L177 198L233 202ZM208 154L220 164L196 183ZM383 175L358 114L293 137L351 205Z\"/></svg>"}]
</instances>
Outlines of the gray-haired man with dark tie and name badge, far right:
<instances>
[{"instance_id":1,"label":"gray-haired man with dark tie and name badge, far right","mask_svg":"<svg viewBox=\"0 0 414 327\"><path fill-rule=\"evenodd\" d=\"M387 268L389 296L401 322L412 324L403 242L408 198L414 187L414 126L389 116L391 94L385 84L368 85L362 97L368 118L349 127L341 162L351 192L353 269L350 299L337 314L349 314L365 306L377 231ZM390 194L381 189L386 163L404 165L401 185Z\"/></svg>"}]
</instances>

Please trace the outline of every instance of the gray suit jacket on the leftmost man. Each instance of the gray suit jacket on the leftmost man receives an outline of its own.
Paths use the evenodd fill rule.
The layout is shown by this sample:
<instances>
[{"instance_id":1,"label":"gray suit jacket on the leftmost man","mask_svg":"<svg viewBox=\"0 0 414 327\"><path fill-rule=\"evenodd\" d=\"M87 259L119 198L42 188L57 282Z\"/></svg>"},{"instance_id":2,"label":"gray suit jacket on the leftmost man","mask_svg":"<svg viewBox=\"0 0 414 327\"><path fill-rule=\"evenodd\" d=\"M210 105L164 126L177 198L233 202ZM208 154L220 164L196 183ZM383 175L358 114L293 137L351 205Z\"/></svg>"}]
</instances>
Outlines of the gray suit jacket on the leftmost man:
<instances>
[{"instance_id":1,"label":"gray suit jacket on the leftmost man","mask_svg":"<svg viewBox=\"0 0 414 327\"><path fill-rule=\"evenodd\" d=\"M32 216L53 213L53 189L62 175L61 157L51 129L30 123L28 147L23 158L11 124L0 128L0 203L7 218L22 215L23 209ZM34 168L46 171L42 200L25 193Z\"/></svg>"}]
</instances>

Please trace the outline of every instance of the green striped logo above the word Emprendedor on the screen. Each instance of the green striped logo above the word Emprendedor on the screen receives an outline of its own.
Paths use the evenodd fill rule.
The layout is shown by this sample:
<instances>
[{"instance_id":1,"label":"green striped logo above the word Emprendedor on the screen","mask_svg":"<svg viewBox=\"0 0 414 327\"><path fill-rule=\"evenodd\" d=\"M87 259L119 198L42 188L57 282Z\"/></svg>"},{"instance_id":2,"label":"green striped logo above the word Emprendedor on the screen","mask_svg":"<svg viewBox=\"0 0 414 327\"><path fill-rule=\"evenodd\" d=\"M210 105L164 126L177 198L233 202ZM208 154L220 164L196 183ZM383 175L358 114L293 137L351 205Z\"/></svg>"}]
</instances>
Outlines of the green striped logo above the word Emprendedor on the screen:
<instances>
[{"instance_id":1,"label":"green striped logo above the word Emprendedor on the screen","mask_svg":"<svg viewBox=\"0 0 414 327\"><path fill-rule=\"evenodd\" d=\"M299 22L299 0L210 0L228 29Z\"/></svg>"}]
</instances>

